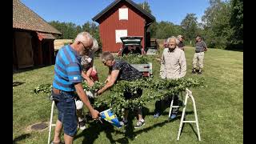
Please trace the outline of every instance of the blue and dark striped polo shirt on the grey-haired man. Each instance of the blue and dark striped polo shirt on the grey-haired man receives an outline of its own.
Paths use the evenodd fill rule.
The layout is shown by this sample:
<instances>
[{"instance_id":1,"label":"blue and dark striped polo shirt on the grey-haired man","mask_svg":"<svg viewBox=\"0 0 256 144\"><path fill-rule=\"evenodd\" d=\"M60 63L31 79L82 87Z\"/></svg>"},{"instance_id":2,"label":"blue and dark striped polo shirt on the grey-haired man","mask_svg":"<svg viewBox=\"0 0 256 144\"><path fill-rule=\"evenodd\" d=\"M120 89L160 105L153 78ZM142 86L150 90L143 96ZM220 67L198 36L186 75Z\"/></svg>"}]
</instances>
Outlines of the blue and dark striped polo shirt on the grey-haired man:
<instances>
[{"instance_id":1,"label":"blue and dark striped polo shirt on the grey-haired man","mask_svg":"<svg viewBox=\"0 0 256 144\"><path fill-rule=\"evenodd\" d=\"M74 91L74 83L82 82L81 57L70 45L58 50L54 66L53 87L58 90Z\"/></svg>"}]
</instances>

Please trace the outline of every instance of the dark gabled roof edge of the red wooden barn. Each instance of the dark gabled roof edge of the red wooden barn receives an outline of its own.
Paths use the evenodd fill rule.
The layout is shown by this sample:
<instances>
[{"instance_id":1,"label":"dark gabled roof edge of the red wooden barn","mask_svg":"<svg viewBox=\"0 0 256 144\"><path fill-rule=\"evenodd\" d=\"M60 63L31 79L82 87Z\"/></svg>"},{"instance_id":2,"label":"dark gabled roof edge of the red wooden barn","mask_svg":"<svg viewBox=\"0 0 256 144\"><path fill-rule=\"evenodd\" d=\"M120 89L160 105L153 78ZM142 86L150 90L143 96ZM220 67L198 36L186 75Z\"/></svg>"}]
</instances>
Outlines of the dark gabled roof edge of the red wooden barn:
<instances>
[{"instance_id":1,"label":"dark gabled roof edge of the red wooden barn","mask_svg":"<svg viewBox=\"0 0 256 144\"><path fill-rule=\"evenodd\" d=\"M95 22L99 22L99 18L101 18L104 14L106 14L110 9L116 6L119 2L128 2L131 6L134 6L135 9L137 9L142 14L144 14L147 18L149 18L151 22L155 20L152 14L148 13L146 10L143 10L141 6L138 6L138 4L136 4L131 0L115 0L109 6L106 6L106 8L102 10L100 13L98 13L94 18L92 18L92 20Z\"/></svg>"}]
</instances>

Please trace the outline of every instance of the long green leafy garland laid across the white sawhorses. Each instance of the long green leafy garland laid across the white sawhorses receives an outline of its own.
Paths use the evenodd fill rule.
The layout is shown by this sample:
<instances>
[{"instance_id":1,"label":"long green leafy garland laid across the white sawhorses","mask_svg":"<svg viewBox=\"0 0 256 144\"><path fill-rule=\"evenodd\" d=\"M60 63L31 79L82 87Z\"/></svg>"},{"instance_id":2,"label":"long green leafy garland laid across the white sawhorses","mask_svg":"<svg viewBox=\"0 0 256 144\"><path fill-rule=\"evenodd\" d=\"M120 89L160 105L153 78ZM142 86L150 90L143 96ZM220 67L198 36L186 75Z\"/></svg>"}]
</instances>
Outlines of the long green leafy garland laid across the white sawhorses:
<instances>
[{"instance_id":1,"label":"long green leafy garland laid across the white sawhorses","mask_svg":"<svg viewBox=\"0 0 256 144\"><path fill-rule=\"evenodd\" d=\"M190 87L203 86L203 79L179 78L179 79L153 79L141 78L134 81L118 81L112 86L109 92L103 93L101 96L94 98L94 107L111 108L115 114L122 116L122 108L134 109L135 107L145 106L146 102L160 100L166 96L178 94ZM87 86L86 82L82 83L85 91L91 91L95 94L102 86L103 82L94 82L94 86ZM50 84L41 84L34 88L34 93L44 92L50 94ZM139 98L124 98L124 92L128 91L136 94L138 89L142 89L142 96Z\"/></svg>"}]
</instances>

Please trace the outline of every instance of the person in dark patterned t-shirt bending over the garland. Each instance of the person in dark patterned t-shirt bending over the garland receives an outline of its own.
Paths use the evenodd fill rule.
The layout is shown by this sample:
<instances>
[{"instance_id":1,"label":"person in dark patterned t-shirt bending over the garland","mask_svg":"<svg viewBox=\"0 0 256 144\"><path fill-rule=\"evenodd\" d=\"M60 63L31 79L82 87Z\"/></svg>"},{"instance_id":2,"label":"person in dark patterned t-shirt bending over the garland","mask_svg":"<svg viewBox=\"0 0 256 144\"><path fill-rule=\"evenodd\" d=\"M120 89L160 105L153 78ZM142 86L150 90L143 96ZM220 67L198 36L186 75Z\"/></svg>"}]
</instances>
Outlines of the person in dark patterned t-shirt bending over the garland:
<instances>
[{"instance_id":1,"label":"person in dark patterned t-shirt bending over the garland","mask_svg":"<svg viewBox=\"0 0 256 144\"><path fill-rule=\"evenodd\" d=\"M142 78L142 74L137 69L135 69L133 66L130 66L130 64L125 61L114 59L114 56L108 51L102 53L101 59L103 64L109 67L109 75L106 78L106 85L103 86L101 90L98 90L99 95L111 86L113 86L116 81L132 81ZM140 96L142 96L142 90L138 90L138 94L131 94L129 91L124 92L124 97L126 99ZM140 128L145 124L145 121L142 118L142 109L137 108L137 111L138 122L136 123L136 126L134 126L134 128ZM124 111L124 117L121 122L122 125L126 125L128 123L128 113L129 110Z\"/></svg>"}]
</instances>

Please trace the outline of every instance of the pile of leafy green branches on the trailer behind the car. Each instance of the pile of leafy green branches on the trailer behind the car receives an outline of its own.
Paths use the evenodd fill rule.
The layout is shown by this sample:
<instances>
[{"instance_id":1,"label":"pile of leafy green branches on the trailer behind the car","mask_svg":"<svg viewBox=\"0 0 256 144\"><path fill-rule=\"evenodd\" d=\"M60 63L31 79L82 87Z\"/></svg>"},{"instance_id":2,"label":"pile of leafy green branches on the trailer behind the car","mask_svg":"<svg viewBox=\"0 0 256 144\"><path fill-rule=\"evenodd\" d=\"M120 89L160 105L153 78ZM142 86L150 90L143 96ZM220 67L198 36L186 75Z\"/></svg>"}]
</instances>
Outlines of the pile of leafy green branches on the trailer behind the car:
<instances>
[{"instance_id":1,"label":"pile of leafy green branches on the trailer behind the car","mask_svg":"<svg viewBox=\"0 0 256 144\"><path fill-rule=\"evenodd\" d=\"M148 59L146 55L142 54L127 54L123 55L122 57L116 57L117 59L122 59L128 63L132 64L146 64L148 63Z\"/></svg>"}]
</instances>

